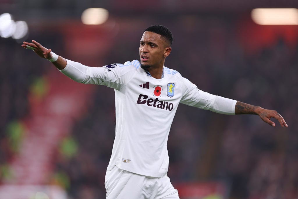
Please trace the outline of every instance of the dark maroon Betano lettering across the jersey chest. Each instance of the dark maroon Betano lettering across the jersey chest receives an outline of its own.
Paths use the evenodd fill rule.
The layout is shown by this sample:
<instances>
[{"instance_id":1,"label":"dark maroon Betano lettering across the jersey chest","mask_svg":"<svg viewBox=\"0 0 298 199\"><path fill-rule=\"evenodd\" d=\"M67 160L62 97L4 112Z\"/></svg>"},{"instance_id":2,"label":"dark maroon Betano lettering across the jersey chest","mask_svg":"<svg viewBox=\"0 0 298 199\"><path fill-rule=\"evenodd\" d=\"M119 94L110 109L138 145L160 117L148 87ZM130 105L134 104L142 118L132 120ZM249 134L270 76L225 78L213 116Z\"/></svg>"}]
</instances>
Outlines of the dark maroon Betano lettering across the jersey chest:
<instances>
[{"instance_id":1,"label":"dark maroon Betano lettering across the jersey chest","mask_svg":"<svg viewBox=\"0 0 298 199\"><path fill-rule=\"evenodd\" d=\"M158 98L148 98L148 95L139 95L138 101L136 102L137 104L147 104L148 107L155 107L159 109L166 109L166 110L173 110L173 103L169 103L167 101L162 101L158 100Z\"/></svg>"}]
</instances>

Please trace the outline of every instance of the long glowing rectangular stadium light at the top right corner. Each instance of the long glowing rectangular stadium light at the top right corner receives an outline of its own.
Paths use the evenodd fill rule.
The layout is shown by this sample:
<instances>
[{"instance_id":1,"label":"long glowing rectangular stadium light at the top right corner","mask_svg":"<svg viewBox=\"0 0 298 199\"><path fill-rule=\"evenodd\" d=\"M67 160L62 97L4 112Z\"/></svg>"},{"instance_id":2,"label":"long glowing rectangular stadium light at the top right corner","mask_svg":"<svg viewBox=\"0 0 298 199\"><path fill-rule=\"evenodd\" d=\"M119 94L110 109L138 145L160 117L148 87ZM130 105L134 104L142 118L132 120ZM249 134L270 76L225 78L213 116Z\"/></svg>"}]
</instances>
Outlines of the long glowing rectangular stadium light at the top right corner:
<instances>
[{"instance_id":1,"label":"long glowing rectangular stadium light at the top right corner","mask_svg":"<svg viewBox=\"0 0 298 199\"><path fill-rule=\"evenodd\" d=\"M260 25L298 25L296 8L256 8L251 16Z\"/></svg>"}]
</instances>

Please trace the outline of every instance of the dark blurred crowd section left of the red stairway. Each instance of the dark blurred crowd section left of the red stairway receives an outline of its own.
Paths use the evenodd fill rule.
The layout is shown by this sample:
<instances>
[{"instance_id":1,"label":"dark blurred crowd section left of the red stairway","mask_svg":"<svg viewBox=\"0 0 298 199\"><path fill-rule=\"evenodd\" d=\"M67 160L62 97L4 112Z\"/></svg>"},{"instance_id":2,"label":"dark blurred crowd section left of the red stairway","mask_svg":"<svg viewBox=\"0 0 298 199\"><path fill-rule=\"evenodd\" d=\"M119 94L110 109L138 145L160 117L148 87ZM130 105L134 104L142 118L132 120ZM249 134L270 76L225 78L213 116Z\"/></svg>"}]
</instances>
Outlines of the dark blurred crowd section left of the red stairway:
<instances>
[{"instance_id":1,"label":"dark blurred crowd section left of the red stairway","mask_svg":"<svg viewBox=\"0 0 298 199\"><path fill-rule=\"evenodd\" d=\"M46 71L42 60L32 63L36 55L23 53L13 39L0 39L0 166L6 168L23 133L20 120L30 114L28 93L36 78ZM2 172L3 175L3 172ZM1 176L3 177L3 176Z\"/></svg>"}]
</instances>

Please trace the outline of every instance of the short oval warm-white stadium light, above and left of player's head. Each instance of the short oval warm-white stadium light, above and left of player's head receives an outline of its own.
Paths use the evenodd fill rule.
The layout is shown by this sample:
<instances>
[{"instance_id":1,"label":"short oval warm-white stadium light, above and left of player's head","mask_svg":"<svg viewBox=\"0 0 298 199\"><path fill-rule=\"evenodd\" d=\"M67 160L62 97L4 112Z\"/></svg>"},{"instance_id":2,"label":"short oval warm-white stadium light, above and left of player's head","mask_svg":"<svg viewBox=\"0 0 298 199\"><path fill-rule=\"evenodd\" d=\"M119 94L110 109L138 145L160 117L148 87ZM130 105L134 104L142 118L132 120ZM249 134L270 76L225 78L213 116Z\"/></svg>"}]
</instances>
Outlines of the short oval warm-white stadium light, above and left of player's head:
<instances>
[{"instance_id":1,"label":"short oval warm-white stadium light, above and left of player's head","mask_svg":"<svg viewBox=\"0 0 298 199\"><path fill-rule=\"evenodd\" d=\"M108 20L109 12L104 8L88 8L83 11L81 19L83 24L99 25Z\"/></svg>"}]
</instances>

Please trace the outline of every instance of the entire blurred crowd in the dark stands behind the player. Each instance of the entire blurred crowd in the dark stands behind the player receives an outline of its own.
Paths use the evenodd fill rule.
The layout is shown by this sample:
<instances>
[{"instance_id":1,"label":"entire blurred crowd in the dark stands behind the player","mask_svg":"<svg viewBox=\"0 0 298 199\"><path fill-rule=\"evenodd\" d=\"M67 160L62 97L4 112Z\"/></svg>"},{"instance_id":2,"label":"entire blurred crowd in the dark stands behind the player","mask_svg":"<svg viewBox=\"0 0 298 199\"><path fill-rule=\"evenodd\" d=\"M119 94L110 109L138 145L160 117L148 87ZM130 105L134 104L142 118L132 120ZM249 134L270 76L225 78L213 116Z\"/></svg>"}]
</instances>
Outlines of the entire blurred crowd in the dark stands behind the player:
<instances>
[{"instance_id":1,"label":"entire blurred crowd in the dark stands behind the player","mask_svg":"<svg viewBox=\"0 0 298 199\"><path fill-rule=\"evenodd\" d=\"M298 198L298 43L293 48L280 37L246 53L235 21L199 22L181 18L176 24L165 24L174 36L165 66L206 92L275 109L289 127L281 128L277 121L276 127L270 127L256 115L220 115L181 104L168 140L171 182L221 180L230 185L233 199ZM119 47L108 52L103 62L138 59L142 31L132 34L122 28L115 42ZM40 39L46 41L45 36ZM13 154L7 127L28 114L32 79L46 74L47 68L42 59L33 58L36 55L25 56L13 41L0 42L3 166ZM105 169L114 135L114 91L94 86L89 109L70 135L77 152L68 158L58 155L53 163L53 173L65 176L60 183L70 199L105 198ZM68 183L63 184L65 181Z\"/></svg>"}]
</instances>

